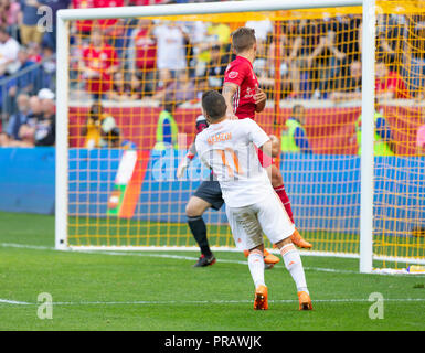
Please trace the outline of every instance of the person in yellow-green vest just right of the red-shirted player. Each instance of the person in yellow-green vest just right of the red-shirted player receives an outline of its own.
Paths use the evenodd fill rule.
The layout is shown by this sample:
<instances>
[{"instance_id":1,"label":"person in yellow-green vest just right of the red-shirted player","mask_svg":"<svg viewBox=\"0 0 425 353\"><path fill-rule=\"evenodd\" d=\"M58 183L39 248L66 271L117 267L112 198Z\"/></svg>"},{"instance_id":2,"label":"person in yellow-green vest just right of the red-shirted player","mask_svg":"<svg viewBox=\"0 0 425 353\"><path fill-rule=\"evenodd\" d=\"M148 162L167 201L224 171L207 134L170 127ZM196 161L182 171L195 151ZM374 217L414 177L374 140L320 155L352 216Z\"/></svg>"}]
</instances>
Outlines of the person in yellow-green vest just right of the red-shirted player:
<instances>
[{"instance_id":1,"label":"person in yellow-green vest just right of the red-shirted player","mask_svg":"<svg viewBox=\"0 0 425 353\"><path fill-rule=\"evenodd\" d=\"M312 153L304 126L306 110L301 105L293 107L291 116L286 119L281 136L281 151L284 153Z\"/></svg>"}]
</instances>

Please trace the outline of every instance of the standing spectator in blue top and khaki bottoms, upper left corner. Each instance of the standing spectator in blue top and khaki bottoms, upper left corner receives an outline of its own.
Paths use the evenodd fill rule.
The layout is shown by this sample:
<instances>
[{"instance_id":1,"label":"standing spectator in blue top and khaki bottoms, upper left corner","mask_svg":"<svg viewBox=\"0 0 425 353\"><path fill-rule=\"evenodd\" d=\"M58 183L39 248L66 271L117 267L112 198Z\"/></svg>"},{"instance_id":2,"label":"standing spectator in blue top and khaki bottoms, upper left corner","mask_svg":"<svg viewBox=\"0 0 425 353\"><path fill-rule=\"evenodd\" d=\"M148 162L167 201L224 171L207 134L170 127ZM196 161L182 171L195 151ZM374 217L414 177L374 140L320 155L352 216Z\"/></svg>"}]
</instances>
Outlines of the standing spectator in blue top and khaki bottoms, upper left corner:
<instances>
[{"instance_id":1,"label":"standing spectator in blue top and khaki bottoms, upper left corner","mask_svg":"<svg viewBox=\"0 0 425 353\"><path fill-rule=\"evenodd\" d=\"M41 44L44 32L38 29L38 22L41 18L38 14L39 8L42 3L36 0L22 0L21 1L21 25L20 25L20 35L21 43L28 45L31 42Z\"/></svg>"}]
</instances>

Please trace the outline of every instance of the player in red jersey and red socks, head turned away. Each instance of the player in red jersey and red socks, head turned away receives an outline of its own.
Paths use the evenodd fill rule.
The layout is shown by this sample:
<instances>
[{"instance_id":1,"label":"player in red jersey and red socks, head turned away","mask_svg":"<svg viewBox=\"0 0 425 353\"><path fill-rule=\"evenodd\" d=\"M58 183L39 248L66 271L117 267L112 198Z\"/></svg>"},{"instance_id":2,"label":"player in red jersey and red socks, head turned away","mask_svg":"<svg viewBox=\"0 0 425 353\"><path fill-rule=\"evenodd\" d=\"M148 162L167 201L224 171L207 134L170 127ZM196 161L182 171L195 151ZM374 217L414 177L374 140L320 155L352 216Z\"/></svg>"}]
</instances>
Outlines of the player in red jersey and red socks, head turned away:
<instances>
[{"instance_id":1,"label":"player in red jersey and red socks, head turned away","mask_svg":"<svg viewBox=\"0 0 425 353\"><path fill-rule=\"evenodd\" d=\"M258 86L258 81L253 69L253 62L257 50L255 31L249 28L237 29L232 33L232 45L236 58L226 68L222 90L227 105L226 114L230 119L254 119L256 113L264 110L267 100L266 94ZM261 153L261 151L258 152L258 159L264 168L272 165L272 185L285 206L290 221L294 223L290 201L286 194L279 169L273 163L272 159ZM291 240L299 247L312 247L310 243L301 237L298 231L295 231Z\"/></svg>"}]
</instances>

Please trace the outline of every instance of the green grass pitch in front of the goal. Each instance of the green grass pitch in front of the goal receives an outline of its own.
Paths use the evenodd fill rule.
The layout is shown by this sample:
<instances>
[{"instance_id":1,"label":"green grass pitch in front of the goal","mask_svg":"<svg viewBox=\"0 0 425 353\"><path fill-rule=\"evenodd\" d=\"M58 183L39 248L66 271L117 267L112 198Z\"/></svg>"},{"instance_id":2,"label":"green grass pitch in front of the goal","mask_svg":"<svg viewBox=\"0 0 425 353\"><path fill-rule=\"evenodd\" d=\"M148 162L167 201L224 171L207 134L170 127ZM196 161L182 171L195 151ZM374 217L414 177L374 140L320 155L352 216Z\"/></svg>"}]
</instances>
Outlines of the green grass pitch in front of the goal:
<instances>
[{"instance_id":1,"label":"green grass pitch in front of the goal","mask_svg":"<svg viewBox=\"0 0 425 353\"><path fill-rule=\"evenodd\" d=\"M269 310L254 311L245 258L195 252L56 252L54 217L0 213L0 330L424 330L425 276L361 275L358 260L304 256L315 310L300 312L281 264L266 271ZM38 296L53 319L38 318ZM384 318L369 318L372 292Z\"/></svg>"}]
</instances>

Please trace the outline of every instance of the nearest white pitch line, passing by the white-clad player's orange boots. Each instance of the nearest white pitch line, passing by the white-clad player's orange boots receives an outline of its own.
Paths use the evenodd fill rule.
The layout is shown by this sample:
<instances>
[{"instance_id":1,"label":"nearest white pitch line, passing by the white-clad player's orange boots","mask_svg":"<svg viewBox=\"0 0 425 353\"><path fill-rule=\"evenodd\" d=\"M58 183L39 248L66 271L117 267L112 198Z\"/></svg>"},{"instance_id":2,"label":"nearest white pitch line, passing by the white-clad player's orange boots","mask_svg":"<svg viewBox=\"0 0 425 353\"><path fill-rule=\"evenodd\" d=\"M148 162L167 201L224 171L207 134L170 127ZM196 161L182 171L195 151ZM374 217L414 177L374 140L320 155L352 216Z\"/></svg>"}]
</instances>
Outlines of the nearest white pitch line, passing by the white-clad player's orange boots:
<instances>
[{"instance_id":1,"label":"nearest white pitch line, passing by the white-clad player's orange boots","mask_svg":"<svg viewBox=\"0 0 425 353\"><path fill-rule=\"evenodd\" d=\"M315 303L344 303L344 302L369 302L369 299L314 299ZM423 302L425 298L389 298L386 302ZM269 300L270 303L297 303L298 300ZM25 302L0 299L0 304L12 306L39 306L36 302ZM252 303L252 300L136 300L136 301L57 301L53 306L160 306L160 304L237 304Z\"/></svg>"}]
</instances>

